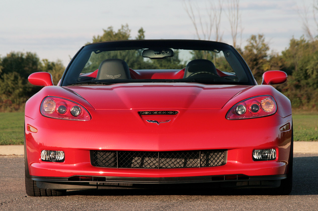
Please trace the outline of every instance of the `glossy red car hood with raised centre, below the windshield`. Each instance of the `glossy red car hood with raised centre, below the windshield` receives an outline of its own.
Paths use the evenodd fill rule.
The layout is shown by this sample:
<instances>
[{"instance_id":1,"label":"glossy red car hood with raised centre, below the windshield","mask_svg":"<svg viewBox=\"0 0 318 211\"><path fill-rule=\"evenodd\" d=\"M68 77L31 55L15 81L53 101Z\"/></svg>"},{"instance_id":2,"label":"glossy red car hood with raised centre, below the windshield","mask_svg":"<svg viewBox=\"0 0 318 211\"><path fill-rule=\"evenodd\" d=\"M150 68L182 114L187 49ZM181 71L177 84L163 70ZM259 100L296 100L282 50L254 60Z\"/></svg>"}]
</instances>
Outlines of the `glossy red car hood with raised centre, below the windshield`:
<instances>
[{"instance_id":1,"label":"glossy red car hood with raised centre, below the windshield","mask_svg":"<svg viewBox=\"0 0 318 211\"><path fill-rule=\"evenodd\" d=\"M127 83L63 87L95 109L220 109L246 85Z\"/></svg>"}]
</instances>

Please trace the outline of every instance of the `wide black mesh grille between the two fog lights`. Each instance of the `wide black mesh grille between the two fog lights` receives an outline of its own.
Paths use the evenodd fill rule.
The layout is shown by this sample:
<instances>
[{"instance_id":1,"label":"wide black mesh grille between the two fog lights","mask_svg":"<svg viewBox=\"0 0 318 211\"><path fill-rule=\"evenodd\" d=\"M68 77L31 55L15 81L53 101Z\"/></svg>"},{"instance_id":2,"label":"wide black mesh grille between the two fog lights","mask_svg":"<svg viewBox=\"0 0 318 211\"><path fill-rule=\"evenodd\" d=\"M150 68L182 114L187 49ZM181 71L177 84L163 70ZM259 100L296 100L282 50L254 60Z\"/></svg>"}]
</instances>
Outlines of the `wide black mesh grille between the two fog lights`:
<instances>
[{"instance_id":1,"label":"wide black mesh grille between the two fog lights","mask_svg":"<svg viewBox=\"0 0 318 211\"><path fill-rule=\"evenodd\" d=\"M108 168L190 168L225 164L224 150L135 152L91 150L91 164Z\"/></svg>"}]
</instances>

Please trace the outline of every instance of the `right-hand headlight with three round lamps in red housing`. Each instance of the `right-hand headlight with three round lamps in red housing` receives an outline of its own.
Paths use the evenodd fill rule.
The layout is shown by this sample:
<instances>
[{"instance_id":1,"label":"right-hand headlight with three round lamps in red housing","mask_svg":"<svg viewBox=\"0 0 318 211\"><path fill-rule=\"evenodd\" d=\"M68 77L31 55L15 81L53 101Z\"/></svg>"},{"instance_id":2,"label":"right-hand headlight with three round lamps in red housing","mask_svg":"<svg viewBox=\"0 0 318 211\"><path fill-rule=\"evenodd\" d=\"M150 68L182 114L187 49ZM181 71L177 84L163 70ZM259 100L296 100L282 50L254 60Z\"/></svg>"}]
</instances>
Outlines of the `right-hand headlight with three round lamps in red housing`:
<instances>
[{"instance_id":1,"label":"right-hand headlight with three round lamps in red housing","mask_svg":"<svg viewBox=\"0 0 318 211\"><path fill-rule=\"evenodd\" d=\"M226 119L251 119L273 115L277 111L275 100L270 95L245 99L234 105L226 114Z\"/></svg>"}]
</instances>

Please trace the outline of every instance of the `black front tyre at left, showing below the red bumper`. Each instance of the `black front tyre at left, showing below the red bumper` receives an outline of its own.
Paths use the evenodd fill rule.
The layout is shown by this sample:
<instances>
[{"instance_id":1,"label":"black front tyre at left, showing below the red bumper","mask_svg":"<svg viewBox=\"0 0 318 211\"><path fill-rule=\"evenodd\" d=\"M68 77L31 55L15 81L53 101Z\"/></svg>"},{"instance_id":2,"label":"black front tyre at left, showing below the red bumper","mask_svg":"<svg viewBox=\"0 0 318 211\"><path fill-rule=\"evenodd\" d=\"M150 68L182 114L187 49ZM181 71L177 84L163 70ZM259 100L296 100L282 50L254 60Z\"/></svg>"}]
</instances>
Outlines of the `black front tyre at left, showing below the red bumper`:
<instances>
[{"instance_id":1,"label":"black front tyre at left, showing below the red bumper","mask_svg":"<svg viewBox=\"0 0 318 211\"><path fill-rule=\"evenodd\" d=\"M25 177L25 191L29 196L62 196L66 190L38 188L36 181Z\"/></svg>"}]
</instances>

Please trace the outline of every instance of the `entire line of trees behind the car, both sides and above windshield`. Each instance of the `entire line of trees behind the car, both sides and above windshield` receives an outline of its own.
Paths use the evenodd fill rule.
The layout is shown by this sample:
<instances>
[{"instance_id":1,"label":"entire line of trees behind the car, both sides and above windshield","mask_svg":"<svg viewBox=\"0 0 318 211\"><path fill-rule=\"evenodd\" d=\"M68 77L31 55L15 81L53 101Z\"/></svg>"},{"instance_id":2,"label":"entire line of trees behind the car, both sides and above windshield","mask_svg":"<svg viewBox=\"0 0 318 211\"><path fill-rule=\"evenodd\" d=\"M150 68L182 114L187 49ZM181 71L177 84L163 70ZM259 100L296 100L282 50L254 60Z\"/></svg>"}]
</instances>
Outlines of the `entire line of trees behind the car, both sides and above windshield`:
<instances>
[{"instance_id":1,"label":"entire line of trees behind the car, both sides and above windshield","mask_svg":"<svg viewBox=\"0 0 318 211\"><path fill-rule=\"evenodd\" d=\"M94 36L92 42L131 39L130 32L127 24L122 25L118 31L108 27L103 35ZM145 31L140 28L134 39L144 38ZM264 35L259 34L252 35L247 40L247 45L242 49L238 48L238 51L259 84L265 71L285 71L288 75L287 82L275 85L275 88L291 100L294 109L318 111L318 40L292 38L285 51L269 53L270 48ZM133 62L137 61L132 61L131 65L138 69L140 63L135 64L135 67ZM176 69L184 66L178 59L167 62L175 64ZM159 67L156 61L151 65L152 68ZM0 112L23 110L25 101L42 88L27 81L31 73L50 72L56 85L64 70L61 61L40 60L36 53L11 52L0 57Z\"/></svg>"}]
</instances>

